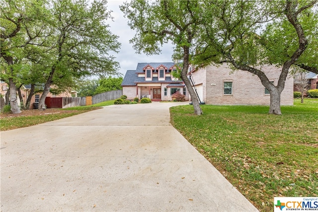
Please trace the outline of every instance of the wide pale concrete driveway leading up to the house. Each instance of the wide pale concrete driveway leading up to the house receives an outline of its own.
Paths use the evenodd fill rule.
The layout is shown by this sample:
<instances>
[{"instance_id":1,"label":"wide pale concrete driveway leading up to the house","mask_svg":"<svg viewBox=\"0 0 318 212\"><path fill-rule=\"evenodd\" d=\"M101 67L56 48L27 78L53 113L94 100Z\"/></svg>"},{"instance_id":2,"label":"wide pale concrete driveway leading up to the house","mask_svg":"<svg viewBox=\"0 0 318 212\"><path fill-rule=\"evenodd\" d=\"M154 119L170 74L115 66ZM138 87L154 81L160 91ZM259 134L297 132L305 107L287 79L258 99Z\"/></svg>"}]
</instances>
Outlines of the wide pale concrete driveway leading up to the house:
<instances>
[{"instance_id":1,"label":"wide pale concrete driveway leading up to the house","mask_svg":"<svg viewBox=\"0 0 318 212\"><path fill-rule=\"evenodd\" d=\"M1 211L257 211L170 125L178 104L1 132Z\"/></svg>"}]
</instances>

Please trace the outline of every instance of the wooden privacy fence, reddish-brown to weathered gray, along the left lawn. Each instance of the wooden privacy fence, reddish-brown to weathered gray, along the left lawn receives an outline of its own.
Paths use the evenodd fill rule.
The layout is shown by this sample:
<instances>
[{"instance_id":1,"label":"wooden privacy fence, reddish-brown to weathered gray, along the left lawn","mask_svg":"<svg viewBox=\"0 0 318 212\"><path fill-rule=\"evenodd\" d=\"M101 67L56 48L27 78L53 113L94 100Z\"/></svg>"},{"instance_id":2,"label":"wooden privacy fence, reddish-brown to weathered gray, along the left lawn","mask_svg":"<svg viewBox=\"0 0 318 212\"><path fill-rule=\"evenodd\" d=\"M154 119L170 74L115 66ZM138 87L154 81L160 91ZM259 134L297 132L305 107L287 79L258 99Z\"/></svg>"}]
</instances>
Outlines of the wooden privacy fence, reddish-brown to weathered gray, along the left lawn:
<instances>
[{"instance_id":1,"label":"wooden privacy fence, reddish-brown to weathered gray, along the left lawn","mask_svg":"<svg viewBox=\"0 0 318 212\"><path fill-rule=\"evenodd\" d=\"M92 105L100 102L118 99L123 95L122 90L112 90L94 96L85 97L46 97L47 108L68 108L84 105Z\"/></svg>"}]
</instances>

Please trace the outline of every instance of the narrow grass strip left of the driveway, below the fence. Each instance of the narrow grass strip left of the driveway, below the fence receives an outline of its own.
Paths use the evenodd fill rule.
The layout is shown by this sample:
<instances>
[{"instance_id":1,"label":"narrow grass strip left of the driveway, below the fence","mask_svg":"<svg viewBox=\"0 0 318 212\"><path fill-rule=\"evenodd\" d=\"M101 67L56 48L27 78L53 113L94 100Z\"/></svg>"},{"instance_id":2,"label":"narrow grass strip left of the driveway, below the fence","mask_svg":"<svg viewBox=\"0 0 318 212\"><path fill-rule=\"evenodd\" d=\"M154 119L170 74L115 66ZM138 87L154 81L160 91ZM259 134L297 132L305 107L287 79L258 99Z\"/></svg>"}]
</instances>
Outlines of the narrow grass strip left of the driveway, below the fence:
<instances>
[{"instance_id":1,"label":"narrow grass strip left of the driveway, below the fence","mask_svg":"<svg viewBox=\"0 0 318 212\"><path fill-rule=\"evenodd\" d=\"M103 106L114 104L114 100L101 102L94 105L71 107L63 110L72 110L70 113L48 114L48 115L32 115L32 116L17 116L17 117L4 117L1 118L0 131L13 130L17 128L29 127L37 124L42 124L66 117L74 116L80 113L85 113L91 110L99 109Z\"/></svg>"}]
</instances>

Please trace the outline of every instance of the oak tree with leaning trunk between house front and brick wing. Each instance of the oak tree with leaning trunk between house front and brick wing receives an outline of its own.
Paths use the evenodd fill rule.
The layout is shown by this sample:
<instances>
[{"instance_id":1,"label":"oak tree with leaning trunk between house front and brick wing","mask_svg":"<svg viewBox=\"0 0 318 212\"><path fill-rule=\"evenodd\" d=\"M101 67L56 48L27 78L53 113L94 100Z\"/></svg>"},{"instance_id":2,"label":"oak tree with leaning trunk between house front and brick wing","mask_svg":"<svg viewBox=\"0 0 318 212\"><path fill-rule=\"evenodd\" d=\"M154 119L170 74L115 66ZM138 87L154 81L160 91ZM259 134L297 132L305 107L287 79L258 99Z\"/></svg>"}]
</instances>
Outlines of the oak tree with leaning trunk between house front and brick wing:
<instances>
[{"instance_id":1,"label":"oak tree with leaning trunk between house front and brick wing","mask_svg":"<svg viewBox=\"0 0 318 212\"><path fill-rule=\"evenodd\" d=\"M194 49L203 24L201 2L133 0L123 4L121 10L129 19L128 25L137 31L130 40L137 53L159 54L160 46L169 41L181 51L181 78L191 96L194 113L201 115L199 101L187 78L191 49Z\"/></svg>"}]
</instances>

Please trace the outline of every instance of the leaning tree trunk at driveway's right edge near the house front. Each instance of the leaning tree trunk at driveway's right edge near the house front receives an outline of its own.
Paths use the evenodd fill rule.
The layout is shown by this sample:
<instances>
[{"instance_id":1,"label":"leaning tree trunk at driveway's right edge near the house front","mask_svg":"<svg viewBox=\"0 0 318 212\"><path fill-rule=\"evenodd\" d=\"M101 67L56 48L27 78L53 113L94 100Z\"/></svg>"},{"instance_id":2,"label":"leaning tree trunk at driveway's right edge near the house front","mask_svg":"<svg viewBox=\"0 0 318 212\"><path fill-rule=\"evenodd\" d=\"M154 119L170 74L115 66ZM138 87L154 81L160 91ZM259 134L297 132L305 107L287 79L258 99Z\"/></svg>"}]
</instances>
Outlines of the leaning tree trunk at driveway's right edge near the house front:
<instances>
[{"instance_id":1,"label":"leaning tree trunk at driveway's right edge near the house front","mask_svg":"<svg viewBox=\"0 0 318 212\"><path fill-rule=\"evenodd\" d=\"M203 114L203 112L202 112L202 109L200 107L199 100L197 99L197 95L192 87L190 80L187 77L188 69L189 69L189 48L184 47L183 48L183 67L182 67L182 71L181 71L181 79L183 80L183 82L184 82L185 86L187 87L188 92L191 96L194 114L201 115L201 114Z\"/></svg>"}]
</instances>

